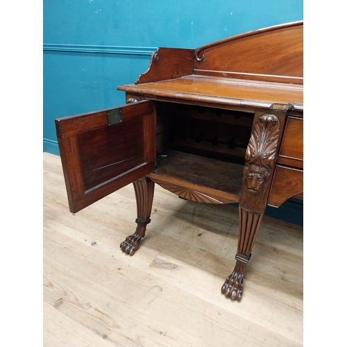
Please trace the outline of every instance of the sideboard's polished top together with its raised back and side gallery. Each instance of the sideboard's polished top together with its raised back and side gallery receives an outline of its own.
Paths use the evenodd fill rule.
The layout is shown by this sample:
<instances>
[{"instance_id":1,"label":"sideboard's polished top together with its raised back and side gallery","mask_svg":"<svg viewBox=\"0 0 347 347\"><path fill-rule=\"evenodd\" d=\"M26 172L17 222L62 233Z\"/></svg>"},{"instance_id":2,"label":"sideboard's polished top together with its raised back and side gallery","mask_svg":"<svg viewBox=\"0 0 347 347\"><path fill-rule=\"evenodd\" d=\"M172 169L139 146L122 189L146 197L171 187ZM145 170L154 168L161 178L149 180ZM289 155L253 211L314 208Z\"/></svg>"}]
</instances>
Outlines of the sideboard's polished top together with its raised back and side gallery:
<instances>
[{"instance_id":1,"label":"sideboard's polished top together with its raised back and side gallery","mask_svg":"<svg viewBox=\"0 0 347 347\"><path fill-rule=\"evenodd\" d=\"M303 22L228 37L196 50L159 48L119 90L142 98L303 111ZM292 109L292 108L291 108Z\"/></svg>"}]
</instances>

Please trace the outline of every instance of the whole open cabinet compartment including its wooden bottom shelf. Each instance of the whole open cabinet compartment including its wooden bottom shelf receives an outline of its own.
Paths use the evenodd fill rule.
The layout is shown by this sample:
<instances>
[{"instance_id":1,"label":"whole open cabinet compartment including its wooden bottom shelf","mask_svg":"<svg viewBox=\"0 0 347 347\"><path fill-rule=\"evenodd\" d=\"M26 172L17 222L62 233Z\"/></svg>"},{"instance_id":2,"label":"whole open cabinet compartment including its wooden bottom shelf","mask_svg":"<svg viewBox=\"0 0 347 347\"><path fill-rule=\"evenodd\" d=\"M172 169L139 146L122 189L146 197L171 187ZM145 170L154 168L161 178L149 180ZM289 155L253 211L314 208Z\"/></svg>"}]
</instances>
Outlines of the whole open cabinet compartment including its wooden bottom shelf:
<instances>
[{"instance_id":1,"label":"whole open cabinet compartment including its wooden bottom shelf","mask_svg":"<svg viewBox=\"0 0 347 347\"><path fill-rule=\"evenodd\" d=\"M154 174L240 194L254 113L196 105L156 105Z\"/></svg>"}]
</instances>

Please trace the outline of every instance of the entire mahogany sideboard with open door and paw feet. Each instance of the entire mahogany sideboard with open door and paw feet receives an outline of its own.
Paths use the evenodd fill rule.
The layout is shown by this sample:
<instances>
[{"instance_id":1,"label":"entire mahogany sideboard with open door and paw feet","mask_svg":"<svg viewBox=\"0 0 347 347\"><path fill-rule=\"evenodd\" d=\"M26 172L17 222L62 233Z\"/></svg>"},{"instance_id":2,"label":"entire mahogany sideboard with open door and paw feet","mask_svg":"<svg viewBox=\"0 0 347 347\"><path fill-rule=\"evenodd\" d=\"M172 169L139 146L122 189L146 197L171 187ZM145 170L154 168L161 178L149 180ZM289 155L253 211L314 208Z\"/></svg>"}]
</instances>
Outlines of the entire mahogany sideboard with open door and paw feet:
<instances>
[{"instance_id":1,"label":"entire mahogany sideboard with open door and paw feet","mask_svg":"<svg viewBox=\"0 0 347 347\"><path fill-rule=\"evenodd\" d=\"M201 203L239 203L235 269L221 287L242 298L266 205L303 198L303 22L198 49L160 48L126 105L56 119L69 209L133 183L133 255L150 223L155 183Z\"/></svg>"}]
</instances>

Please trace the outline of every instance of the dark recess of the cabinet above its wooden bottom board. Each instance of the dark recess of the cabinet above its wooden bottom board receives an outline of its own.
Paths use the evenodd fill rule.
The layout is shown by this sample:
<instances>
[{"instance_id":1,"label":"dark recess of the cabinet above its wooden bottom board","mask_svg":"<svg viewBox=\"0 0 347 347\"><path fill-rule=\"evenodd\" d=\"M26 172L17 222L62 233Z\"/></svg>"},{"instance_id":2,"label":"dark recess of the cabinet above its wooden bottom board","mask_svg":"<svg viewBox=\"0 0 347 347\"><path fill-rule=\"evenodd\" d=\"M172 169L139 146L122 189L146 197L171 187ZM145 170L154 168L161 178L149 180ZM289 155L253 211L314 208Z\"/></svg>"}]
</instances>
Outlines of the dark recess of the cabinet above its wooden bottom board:
<instances>
[{"instance_id":1,"label":"dark recess of the cabinet above its wooden bottom board","mask_svg":"<svg viewBox=\"0 0 347 347\"><path fill-rule=\"evenodd\" d=\"M244 164L254 113L160 102L156 151L174 150Z\"/></svg>"}]
</instances>

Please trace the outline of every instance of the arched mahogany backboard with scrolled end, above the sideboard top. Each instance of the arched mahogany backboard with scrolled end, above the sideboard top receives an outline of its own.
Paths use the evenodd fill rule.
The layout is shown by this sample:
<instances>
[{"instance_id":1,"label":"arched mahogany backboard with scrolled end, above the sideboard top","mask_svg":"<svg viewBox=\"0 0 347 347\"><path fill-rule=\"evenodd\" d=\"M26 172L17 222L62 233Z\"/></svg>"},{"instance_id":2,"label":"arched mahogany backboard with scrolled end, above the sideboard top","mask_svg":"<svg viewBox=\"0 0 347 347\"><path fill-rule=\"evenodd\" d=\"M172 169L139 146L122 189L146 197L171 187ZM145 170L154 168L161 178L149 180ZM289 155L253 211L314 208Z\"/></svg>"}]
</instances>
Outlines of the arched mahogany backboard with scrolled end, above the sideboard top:
<instances>
[{"instance_id":1,"label":"arched mahogany backboard with scrolled end, above the sideboard top","mask_svg":"<svg viewBox=\"0 0 347 347\"><path fill-rule=\"evenodd\" d=\"M196 57L194 74L303 84L303 22L213 42Z\"/></svg>"}]
</instances>

